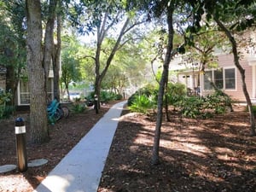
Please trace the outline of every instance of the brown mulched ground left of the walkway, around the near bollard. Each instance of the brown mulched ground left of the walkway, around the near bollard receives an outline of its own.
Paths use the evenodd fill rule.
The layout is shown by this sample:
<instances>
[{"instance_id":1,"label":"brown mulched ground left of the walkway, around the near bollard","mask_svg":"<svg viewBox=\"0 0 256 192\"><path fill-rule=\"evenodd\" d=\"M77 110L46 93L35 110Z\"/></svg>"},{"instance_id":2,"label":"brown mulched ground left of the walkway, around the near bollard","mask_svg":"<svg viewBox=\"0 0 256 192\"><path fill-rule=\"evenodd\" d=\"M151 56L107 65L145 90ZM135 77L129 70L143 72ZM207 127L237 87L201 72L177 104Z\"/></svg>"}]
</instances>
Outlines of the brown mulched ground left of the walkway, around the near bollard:
<instances>
[{"instance_id":1,"label":"brown mulched ground left of the walkway, around the near bollard","mask_svg":"<svg viewBox=\"0 0 256 192\"><path fill-rule=\"evenodd\" d=\"M28 113L16 114L14 118L0 122L0 166L16 165L15 119L26 120L27 161L46 159L44 166L28 168L26 172L7 172L0 174L0 191L30 192L47 176L61 159L77 144L90 128L101 119L113 104L102 106L100 112L92 108L84 113L71 113L67 119L61 119L55 125L50 125L49 143L34 145L29 143L30 126ZM69 107L70 108L70 107Z\"/></svg>"}]
</instances>

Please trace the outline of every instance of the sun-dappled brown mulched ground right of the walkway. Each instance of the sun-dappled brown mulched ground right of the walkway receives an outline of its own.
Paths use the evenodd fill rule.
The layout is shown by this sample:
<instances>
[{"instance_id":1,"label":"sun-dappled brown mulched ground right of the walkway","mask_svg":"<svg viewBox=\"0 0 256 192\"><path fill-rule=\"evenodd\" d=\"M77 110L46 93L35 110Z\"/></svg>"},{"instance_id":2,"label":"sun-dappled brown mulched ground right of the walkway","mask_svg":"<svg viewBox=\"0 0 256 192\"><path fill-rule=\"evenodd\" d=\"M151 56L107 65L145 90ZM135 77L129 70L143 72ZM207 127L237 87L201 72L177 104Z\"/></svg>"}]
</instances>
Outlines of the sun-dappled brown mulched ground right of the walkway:
<instances>
[{"instance_id":1,"label":"sun-dappled brown mulched ground right of the walkway","mask_svg":"<svg viewBox=\"0 0 256 192\"><path fill-rule=\"evenodd\" d=\"M127 113L120 119L99 192L255 192L256 137L247 113L163 121L160 165L150 164L155 119ZM108 189L108 190L106 190Z\"/></svg>"}]
</instances>

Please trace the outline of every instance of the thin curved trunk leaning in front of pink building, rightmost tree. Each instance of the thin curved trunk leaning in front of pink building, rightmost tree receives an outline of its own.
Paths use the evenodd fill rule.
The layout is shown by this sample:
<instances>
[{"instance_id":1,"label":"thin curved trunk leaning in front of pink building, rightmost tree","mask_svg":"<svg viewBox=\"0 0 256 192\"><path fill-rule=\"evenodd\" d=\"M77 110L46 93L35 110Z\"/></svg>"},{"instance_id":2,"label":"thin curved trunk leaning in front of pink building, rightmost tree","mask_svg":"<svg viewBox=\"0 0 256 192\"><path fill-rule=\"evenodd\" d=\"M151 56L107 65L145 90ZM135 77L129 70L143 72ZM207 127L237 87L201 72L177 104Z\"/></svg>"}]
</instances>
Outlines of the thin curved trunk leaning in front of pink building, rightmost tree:
<instances>
[{"instance_id":1,"label":"thin curved trunk leaning in front of pink building, rightmost tree","mask_svg":"<svg viewBox=\"0 0 256 192\"><path fill-rule=\"evenodd\" d=\"M243 94L244 94L244 96L247 100L247 106L248 106L248 110L249 110L249 113L250 113L251 135L255 136L256 133L255 133L255 119L254 119L254 113L253 113L253 105L252 105L251 98L250 98L250 96L248 94L248 91L247 91L247 84L245 82L245 78L246 78L245 77L245 70L241 67L240 62L239 62L236 40L232 36L230 31L223 25L223 23L220 20L215 18L215 21L217 22L218 26L224 31L226 36L230 39L230 43L232 45L232 52L233 52L233 55L234 55L235 65L236 65L237 69L239 70L239 72L241 74L241 86L242 86Z\"/></svg>"}]
</instances>

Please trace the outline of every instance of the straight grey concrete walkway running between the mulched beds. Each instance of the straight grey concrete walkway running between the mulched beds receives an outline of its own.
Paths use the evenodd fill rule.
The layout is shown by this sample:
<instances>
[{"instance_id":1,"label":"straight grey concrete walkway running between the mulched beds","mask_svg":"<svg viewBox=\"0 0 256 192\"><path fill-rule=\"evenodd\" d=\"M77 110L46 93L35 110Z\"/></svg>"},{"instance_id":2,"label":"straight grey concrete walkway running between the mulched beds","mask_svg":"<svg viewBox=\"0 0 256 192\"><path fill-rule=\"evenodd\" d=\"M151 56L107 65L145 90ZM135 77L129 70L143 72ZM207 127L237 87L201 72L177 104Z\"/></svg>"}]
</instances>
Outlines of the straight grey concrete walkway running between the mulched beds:
<instances>
[{"instance_id":1,"label":"straight grey concrete walkway running between the mulched beds","mask_svg":"<svg viewBox=\"0 0 256 192\"><path fill-rule=\"evenodd\" d=\"M34 191L96 192L124 104L113 105Z\"/></svg>"}]
</instances>

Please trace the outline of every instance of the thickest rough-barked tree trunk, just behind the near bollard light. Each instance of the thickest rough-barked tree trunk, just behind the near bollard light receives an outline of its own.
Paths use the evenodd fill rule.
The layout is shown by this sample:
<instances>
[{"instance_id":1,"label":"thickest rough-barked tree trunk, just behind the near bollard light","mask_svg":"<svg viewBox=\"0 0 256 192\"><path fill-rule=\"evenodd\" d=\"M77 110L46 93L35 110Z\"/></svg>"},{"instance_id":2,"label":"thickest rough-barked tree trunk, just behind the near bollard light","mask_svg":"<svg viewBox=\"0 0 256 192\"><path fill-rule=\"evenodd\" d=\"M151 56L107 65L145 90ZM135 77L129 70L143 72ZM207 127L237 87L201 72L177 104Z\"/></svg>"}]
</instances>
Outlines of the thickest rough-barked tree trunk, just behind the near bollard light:
<instances>
[{"instance_id":1,"label":"thickest rough-barked tree trunk, just behind the near bollard light","mask_svg":"<svg viewBox=\"0 0 256 192\"><path fill-rule=\"evenodd\" d=\"M42 65L42 19L40 0L26 0L27 69L30 90L32 143L49 140L45 71Z\"/></svg>"}]
</instances>

